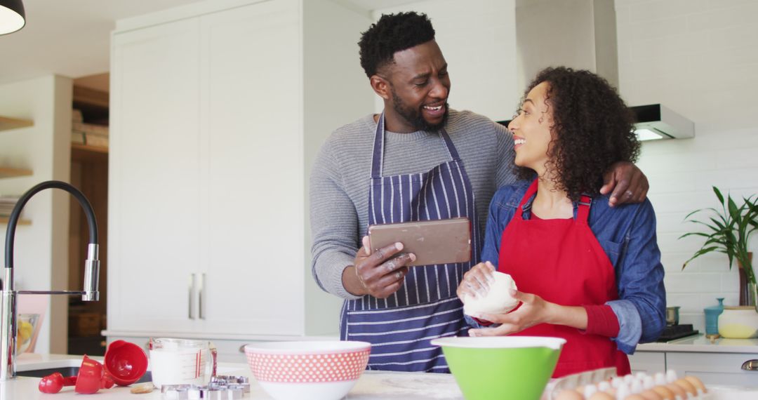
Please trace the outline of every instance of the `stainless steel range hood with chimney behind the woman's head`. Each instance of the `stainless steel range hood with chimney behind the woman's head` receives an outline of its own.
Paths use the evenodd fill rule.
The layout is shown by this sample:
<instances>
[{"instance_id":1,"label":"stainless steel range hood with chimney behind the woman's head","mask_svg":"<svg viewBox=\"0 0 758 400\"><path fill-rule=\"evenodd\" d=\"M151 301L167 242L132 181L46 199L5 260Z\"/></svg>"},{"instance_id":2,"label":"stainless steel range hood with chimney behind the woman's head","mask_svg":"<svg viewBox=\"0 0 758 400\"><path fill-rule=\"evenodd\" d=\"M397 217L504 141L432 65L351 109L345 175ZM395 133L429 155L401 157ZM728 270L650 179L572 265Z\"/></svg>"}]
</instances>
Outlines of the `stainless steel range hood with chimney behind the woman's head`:
<instances>
[{"instance_id":1,"label":"stainless steel range hood with chimney behind the woman's head","mask_svg":"<svg viewBox=\"0 0 758 400\"><path fill-rule=\"evenodd\" d=\"M515 20L518 87L558 65L593 71L619 87L613 0L516 0ZM694 137L694 123L663 105L631 109L641 140Z\"/></svg>"}]
</instances>

